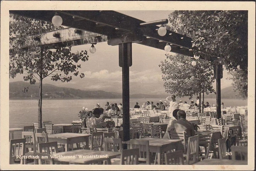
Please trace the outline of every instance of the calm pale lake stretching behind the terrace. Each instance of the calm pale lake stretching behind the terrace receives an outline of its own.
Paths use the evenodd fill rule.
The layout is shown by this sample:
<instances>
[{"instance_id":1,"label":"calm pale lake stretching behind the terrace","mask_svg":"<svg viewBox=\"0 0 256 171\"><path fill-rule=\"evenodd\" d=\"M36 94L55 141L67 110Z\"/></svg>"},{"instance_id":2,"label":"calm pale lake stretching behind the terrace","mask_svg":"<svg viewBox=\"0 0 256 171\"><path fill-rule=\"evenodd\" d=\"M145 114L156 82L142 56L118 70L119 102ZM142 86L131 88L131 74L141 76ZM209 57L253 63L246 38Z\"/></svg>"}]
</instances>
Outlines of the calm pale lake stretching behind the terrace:
<instances>
[{"instance_id":1,"label":"calm pale lake stretching behind the terrace","mask_svg":"<svg viewBox=\"0 0 256 171\"><path fill-rule=\"evenodd\" d=\"M164 99L143 99L143 98L131 98L130 108L134 107L135 102L138 102L140 107L146 101L153 101L154 104L159 100ZM187 101L188 99L177 98L177 101ZM58 123L71 123L74 120L79 120L79 111L82 107L87 107L89 110L96 106L96 103L100 103L101 107L105 106L106 101L109 103L122 103L121 98L117 99L71 99L71 100L52 100L43 99L42 102L42 121L52 121L53 124ZM195 101L195 99L194 99ZM205 102L209 102L210 105L216 104L216 99L205 99ZM223 99L224 106L247 106L247 100L238 99ZM32 122L38 122L38 100L10 100L9 128L23 128L25 125L32 125Z\"/></svg>"}]
</instances>

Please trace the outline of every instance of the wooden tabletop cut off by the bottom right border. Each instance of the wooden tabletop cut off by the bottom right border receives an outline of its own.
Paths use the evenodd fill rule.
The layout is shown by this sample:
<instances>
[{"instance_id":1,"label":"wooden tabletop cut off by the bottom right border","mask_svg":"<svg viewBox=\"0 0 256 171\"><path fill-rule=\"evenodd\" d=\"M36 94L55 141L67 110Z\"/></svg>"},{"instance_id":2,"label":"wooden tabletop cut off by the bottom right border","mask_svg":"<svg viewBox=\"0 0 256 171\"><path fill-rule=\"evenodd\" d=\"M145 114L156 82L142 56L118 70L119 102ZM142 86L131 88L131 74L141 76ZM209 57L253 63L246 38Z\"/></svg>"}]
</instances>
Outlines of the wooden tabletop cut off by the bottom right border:
<instances>
[{"instance_id":1,"label":"wooden tabletop cut off by the bottom right border","mask_svg":"<svg viewBox=\"0 0 256 171\"><path fill-rule=\"evenodd\" d=\"M193 165L247 165L247 163L247 160L204 159Z\"/></svg>"}]
</instances>

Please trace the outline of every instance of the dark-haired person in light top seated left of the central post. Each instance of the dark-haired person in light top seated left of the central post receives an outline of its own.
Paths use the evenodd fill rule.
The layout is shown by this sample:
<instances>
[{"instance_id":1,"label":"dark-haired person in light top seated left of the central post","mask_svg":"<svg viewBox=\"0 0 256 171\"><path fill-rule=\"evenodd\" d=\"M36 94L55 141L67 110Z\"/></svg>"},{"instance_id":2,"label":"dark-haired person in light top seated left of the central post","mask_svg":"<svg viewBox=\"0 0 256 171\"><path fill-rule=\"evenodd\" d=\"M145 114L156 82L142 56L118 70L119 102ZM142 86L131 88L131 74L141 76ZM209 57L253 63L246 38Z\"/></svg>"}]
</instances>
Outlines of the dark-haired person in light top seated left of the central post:
<instances>
[{"instance_id":1,"label":"dark-haired person in light top seated left of the central post","mask_svg":"<svg viewBox=\"0 0 256 171\"><path fill-rule=\"evenodd\" d=\"M93 111L93 116L87 120L87 128L110 128L106 122L99 119L101 114L101 110L99 108L95 108Z\"/></svg>"}]
</instances>

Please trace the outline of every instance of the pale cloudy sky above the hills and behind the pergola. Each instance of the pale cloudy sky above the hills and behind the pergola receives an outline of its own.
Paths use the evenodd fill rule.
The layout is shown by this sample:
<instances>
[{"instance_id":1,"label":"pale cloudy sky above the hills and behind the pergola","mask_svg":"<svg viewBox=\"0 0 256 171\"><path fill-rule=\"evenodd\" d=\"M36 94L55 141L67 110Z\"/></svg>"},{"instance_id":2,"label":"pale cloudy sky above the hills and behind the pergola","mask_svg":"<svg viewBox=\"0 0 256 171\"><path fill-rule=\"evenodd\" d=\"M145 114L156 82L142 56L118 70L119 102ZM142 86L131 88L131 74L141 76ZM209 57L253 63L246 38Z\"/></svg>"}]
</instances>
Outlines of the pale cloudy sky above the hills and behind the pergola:
<instances>
[{"instance_id":1,"label":"pale cloudy sky above the hills and behind the pergola","mask_svg":"<svg viewBox=\"0 0 256 171\"><path fill-rule=\"evenodd\" d=\"M138 18L145 22L156 21L168 18L172 11L117 11L128 16ZM118 65L118 46L110 46L107 42L95 45L96 53L91 54L91 44L73 46L73 52L87 50L89 60L81 63L80 72L85 74L81 79L73 76L70 82L52 81L50 78L43 80L43 84L52 84L61 87L70 87L81 90L103 90L111 92L122 92L122 68ZM170 54L175 54L169 52ZM161 60L166 59L164 50L132 44L132 66L129 68L130 94L166 94L163 87L164 81L161 78L161 70L158 66ZM224 71L221 80L222 89L231 86L231 81L227 81L228 75ZM23 75L18 75L12 81L22 81ZM213 84L215 88L215 84Z\"/></svg>"}]
</instances>

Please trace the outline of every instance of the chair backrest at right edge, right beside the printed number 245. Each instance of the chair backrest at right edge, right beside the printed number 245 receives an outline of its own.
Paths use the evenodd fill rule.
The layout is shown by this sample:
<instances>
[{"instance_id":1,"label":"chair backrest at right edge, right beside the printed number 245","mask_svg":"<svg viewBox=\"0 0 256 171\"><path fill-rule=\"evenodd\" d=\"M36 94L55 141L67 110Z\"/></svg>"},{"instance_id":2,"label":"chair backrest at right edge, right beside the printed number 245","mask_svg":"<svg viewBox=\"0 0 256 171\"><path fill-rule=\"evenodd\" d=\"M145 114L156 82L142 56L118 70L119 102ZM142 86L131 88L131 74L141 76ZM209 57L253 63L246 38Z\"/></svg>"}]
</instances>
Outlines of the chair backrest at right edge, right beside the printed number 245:
<instances>
[{"instance_id":1,"label":"chair backrest at right edge, right beside the printed number 245","mask_svg":"<svg viewBox=\"0 0 256 171\"><path fill-rule=\"evenodd\" d=\"M248 160L247 146L231 146L232 160Z\"/></svg>"}]
</instances>

